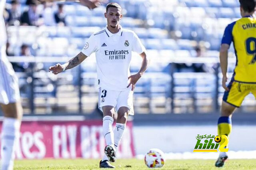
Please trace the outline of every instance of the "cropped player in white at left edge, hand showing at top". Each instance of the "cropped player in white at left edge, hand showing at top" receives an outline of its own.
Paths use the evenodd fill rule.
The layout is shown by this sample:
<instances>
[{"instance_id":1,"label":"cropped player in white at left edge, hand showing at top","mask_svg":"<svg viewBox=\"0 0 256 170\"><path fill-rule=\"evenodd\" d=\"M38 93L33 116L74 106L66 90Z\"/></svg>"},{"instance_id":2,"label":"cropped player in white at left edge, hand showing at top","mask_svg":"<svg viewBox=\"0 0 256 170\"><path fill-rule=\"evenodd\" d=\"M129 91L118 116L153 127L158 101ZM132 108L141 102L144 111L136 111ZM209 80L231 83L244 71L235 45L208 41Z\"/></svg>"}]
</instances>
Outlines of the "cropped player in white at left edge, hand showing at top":
<instances>
[{"instance_id":1,"label":"cropped player in white at left edge, hand showing at top","mask_svg":"<svg viewBox=\"0 0 256 170\"><path fill-rule=\"evenodd\" d=\"M90 9L98 7L101 2L102 0L80 0L80 4ZM23 111L18 78L6 57L7 36L3 17L5 4L6 0L0 0L0 106L4 113L1 132L1 170L12 170L14 165L14 143L20 133Z\"/></svg>"}]
</instances>

